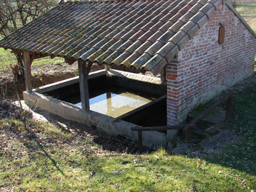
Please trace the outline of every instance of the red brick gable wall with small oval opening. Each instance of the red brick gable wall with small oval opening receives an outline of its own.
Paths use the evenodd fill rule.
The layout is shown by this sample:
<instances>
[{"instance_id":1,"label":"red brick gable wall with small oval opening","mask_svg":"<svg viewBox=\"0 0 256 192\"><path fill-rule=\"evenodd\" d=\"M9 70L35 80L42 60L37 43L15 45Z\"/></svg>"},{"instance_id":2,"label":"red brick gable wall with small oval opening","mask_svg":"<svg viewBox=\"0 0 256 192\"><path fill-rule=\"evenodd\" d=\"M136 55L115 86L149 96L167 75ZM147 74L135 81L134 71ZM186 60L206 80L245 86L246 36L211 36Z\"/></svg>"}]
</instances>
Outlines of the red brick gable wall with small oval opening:
<instances>
[{"instance_id":1,"label":"red brick gable wall with small oval opening","mask_svg":"<svg viewBox=\"0 0 256 192\"><path fill-rule=\"evenodd\" d=\"M218 43L219 22L225 42ZM212 15L167 66L167 119L180 124L200 103L253 74L256 40L226 5Z\"/></svg>"}]
</instances>

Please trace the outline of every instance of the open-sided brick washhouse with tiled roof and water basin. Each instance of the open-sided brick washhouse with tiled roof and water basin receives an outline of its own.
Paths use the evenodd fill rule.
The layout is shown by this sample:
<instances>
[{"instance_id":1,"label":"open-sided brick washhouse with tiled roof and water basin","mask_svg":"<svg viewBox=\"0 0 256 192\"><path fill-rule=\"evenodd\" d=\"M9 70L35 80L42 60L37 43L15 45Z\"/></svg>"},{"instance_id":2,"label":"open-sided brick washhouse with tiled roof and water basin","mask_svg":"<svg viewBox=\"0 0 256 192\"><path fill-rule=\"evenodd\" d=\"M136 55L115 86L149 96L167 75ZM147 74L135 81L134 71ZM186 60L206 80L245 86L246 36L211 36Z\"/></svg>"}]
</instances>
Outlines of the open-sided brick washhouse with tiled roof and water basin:
<instances>
[{"instance_id":1,"label":"open-sided brick washhouse with tiled roof and water basin","mask_svg":"<svg viewBox=\"0 0 256 192\"><path fill-rule=\"evenodd\" d=\"M22 53L26 103L137 140L134 127L183 124L196 106L252 76L256 34L226 0L61 0L0 47ZM45 56L78 61L79 77L33 89L31 64ZM105 69L90 72L95 63ZM147 147L171 149L177 133L141 136Z\"/></svg>"}]
</instances>

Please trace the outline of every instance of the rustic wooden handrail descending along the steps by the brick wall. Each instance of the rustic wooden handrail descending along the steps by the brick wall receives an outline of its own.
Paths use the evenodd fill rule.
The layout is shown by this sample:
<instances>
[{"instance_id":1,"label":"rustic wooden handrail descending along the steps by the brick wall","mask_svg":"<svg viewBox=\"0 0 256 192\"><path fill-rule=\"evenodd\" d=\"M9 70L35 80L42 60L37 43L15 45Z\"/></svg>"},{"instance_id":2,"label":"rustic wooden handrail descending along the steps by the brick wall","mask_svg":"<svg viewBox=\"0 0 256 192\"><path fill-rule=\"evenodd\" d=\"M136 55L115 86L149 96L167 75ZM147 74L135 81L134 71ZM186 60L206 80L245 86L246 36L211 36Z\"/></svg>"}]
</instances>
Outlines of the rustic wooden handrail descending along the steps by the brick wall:
<instances>
[{"instance_id":1,"label":"rustic wooden handrail descending along the steps by the brick wall","mask_svg":"<svg viewBox=\"0 0 256 192\"><path fill-rule=\"evenodd\" d=\"M213 104L210 108L206 109L200 115L196 116L189 124L184 125L170 125L170 126L160 126L160 127L133 127L132 131L138 131L138 143L139 143L139 152L142 154L142 131L167 131L167 130L179 130L186 132L186 141L190 139L190 131L192 128L195 128L195 124L199 122L205 115L210 113L213 109L220 106L225 100L227 100L227 110L226 110L226 122L230 119L231 114L231 102L232 102L232 95L234 94L234 90L229 92L227 95L222 97L218 102Z\"/></svg>"}]
</instances>

